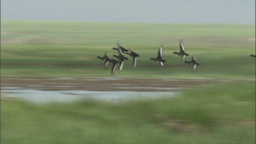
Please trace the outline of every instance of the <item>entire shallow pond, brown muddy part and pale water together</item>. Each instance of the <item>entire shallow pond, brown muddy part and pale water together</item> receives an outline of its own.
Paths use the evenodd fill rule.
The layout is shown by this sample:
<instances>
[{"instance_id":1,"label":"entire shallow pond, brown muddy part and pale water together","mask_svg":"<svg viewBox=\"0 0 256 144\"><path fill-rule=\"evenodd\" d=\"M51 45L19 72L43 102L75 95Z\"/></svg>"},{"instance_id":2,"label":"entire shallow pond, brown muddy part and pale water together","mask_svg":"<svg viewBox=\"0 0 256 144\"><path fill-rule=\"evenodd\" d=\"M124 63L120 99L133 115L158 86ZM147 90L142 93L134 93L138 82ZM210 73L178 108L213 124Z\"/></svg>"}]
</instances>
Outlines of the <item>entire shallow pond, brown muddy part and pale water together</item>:
<instances>
[{"instance_id":1,"label":"entire shallow pond, brown muddy part and pale water together","mask_svg":"<svg viewBox=\"0 0 256 144\"><path fill-rule=\"evenodd\" d=\"M1 97L36 103L82 99L122 102L174 96L182 89L205 85L208 80L138 78L1 78Z\"/></svg>"}]
</instances>

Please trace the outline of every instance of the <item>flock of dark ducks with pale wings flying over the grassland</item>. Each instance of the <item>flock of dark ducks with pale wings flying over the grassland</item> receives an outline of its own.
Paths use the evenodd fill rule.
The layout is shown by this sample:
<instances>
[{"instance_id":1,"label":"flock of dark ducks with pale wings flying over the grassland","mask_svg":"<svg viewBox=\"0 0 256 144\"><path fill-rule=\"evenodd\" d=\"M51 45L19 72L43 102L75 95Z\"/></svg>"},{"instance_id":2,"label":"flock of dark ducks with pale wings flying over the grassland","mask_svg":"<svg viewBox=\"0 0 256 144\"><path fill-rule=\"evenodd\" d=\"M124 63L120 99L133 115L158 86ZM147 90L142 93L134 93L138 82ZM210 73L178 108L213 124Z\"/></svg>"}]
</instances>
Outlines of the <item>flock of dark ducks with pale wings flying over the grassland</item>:
<instances>
[{"instance_id":1,"label":"flock of dark ducks with pale wings flying over the grassland","mask_svg":"<svg viewBox=\"0 0 256 144\"><path fill-rule=\"evenodd\" d=\"M119 68L118 68L118 71L121 72L122 71L122 68L123 68L123 65L124 65L124 60L128 60L128 58L126 58L124 56L124 54L128 54L129 56L132 57L132 63L133 63L133 67L136 66L136 60L137 60L137 57L140 57L139 54L136 54L134 52L134 50L132 49L129 49L130 50L130 53L129 50L125 49L121 44L119 44L117 42L117 46L118 48L112 48L113 50L117 50L118 51L118 56L117 55L113 55L114 57L116 57L118 60L112 58L110 59L109 56L108 56L108 52L105 52L104 53L104 56L100 57L100 56L97 56L97 58L100 58L101 60L103 60L103 65L104 65L104 68L107 68L108 66L108 62L112 63L112 68L111 68L111 75L114 75L115 71L116 71L116 66L118 64ZM158 62L161 66L164 66L163 62L166 62L165 60L162 59L162 52L163 52L163 45L160 46L158 52L157 52L157 57L156 58L150 58L150 60L154 60L155 62ZM198 63L196 63L196 57L195 55L193 55L191 57L191 60L190 61L184 61L185 59L185 56L189 56L189 54L186 54L185 51L184 51L184 46L183 46L183 40L180 40L180 52L173 52L173 54L178 54L182 61L184 63L187 63L189 64L193 71L196 72L196 66L200 65ZM250 55L252 57L256 57L256 55Z\"/></svg>"}]
</instances>

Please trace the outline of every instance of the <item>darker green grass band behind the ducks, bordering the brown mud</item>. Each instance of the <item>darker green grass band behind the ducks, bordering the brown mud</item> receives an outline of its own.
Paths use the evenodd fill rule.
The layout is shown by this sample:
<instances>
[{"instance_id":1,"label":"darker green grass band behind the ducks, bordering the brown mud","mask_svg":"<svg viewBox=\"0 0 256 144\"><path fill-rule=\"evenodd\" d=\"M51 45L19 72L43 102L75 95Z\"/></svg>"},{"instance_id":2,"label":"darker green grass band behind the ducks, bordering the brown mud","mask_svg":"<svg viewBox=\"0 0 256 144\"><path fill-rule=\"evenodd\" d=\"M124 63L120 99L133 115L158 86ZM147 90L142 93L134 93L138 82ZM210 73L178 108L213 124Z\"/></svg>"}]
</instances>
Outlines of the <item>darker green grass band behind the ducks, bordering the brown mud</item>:
<instances>
[{"instance_id":1,"label":"darker green grass band behind the ducks, bordering the brown mud","mask_svg":"<svg viewBox=\"0 0 256 144\"><path fill-rule=\"evenodd\" d=\"M149 60L156 57L158 46L138 46L134 48L140 57L136 68L132 59L125 61L121 73L114 76L135 76L155 78L255 78L255 58L252 48L195 47L187 49L189 54L196 54L200 63L196 74L188 64L182 63L180 56L172 54L176 46L165 46L164 67ZM62 76L62 77L108 77L110 67L103 69L103 56L108 51L116 54L108 46L44 46L44 45L1 45L1 76ZM186 57L190 60L190 56Z\"/></svg>"}]
</instances>

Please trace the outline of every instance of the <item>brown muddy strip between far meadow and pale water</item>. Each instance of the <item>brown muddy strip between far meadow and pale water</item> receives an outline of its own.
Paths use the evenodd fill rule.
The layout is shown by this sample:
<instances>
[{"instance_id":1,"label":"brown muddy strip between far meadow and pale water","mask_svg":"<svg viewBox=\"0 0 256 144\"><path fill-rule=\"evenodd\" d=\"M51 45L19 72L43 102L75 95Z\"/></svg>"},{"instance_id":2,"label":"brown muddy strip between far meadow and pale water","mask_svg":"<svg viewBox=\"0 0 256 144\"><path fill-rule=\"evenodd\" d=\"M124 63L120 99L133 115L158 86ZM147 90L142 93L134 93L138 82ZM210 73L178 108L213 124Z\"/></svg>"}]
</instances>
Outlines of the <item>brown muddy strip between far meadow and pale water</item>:
<instances>
[{"instance_id":1,"label":"brown muddy strip between far meadow and pale water","mask_svg":"<svg viewBox=\"0 0 256 144\"><path fill-rule=\"evenodd\" d=\"M36 90L91 91L170 91L170 88L190 88L208 85L210 80L177 80L147 78L10 78L1 77L2 87Z\"/></svg>"}]
</instances>

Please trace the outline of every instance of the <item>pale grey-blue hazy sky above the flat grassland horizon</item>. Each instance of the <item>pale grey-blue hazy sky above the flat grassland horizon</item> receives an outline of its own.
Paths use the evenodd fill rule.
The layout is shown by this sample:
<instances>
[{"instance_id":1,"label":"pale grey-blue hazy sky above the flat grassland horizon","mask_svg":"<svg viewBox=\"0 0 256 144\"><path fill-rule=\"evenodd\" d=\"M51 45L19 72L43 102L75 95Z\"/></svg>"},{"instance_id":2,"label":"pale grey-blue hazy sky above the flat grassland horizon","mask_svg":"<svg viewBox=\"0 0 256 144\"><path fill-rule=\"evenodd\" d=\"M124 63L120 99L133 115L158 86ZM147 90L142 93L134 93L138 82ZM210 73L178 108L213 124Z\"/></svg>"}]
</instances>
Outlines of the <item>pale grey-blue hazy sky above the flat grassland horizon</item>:
<instances>
[{"instance_id":1,"label":"pale grey-blue hazy sky above the flat grassland horizon","mask_svg":"<svg viewBox=\"0 0 256 144\"><path fill-rule=\"evenodd\" d=\"M255 0L1 0L1 20L255 24Z\"/></svg>"}]
</instances>

